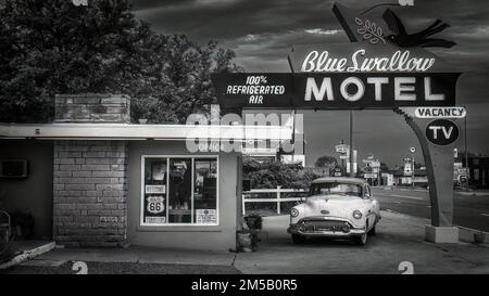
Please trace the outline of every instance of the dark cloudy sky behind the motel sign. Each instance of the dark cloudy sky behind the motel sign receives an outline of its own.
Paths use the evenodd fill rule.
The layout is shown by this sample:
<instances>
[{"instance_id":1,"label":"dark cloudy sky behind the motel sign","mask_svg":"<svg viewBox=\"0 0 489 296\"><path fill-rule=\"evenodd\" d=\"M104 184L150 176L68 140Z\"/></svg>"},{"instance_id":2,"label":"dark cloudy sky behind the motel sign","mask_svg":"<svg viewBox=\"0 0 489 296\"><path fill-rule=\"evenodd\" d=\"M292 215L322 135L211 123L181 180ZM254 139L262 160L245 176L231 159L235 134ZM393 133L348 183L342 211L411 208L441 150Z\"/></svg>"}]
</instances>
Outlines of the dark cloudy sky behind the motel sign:
<instances>
[{"instance_id":1,"label":"dark cloudy sky behind the motel sign","mask_svg":"<svg viewBox=\"0 0 489 296\"><path fill-rule=\"evenodd\" d=\"M247 72L289 72L287 54L292 44L348 42L331 13L333 0L133 0L138 17L165 33L187 34L205 43L217 40L237 53L236 62ZM340 0L368 9L391 0ZM440 18L451 27L440 34L457 46L434 52L464 74L457 83L457 104L467 107L468 149L489 154L489 5L487 0L415 0L402 9L409 29L426 27ZM348 112L304 112L308 163L323 154L334 155L334 145L348 141ZM354 112L354 146L360 157L369 153L388 165L400 164L410 146L418 146L412 130L390 111ZM463 124L463 121L462 121ZM459 141L463 150L463 125ZM418 149L419 151L419 149ZM419 159L422 156L417 155Z\"/></svg>"}]
</instances>

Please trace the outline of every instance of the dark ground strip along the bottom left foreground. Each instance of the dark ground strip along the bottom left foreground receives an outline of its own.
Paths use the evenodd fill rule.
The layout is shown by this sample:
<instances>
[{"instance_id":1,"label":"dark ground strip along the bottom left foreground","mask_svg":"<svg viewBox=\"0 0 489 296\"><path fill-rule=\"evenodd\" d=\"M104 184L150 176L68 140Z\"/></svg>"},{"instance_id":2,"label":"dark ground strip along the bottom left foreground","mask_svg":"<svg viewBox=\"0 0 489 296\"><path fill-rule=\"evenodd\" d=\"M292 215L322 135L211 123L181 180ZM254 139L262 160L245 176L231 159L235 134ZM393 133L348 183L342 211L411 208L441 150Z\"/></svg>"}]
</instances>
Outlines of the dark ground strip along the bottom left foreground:
<instances>
[{"instance_id":1,"label":"dark ground strip along the bottom left foreground","mask_svg":"<svg viewBox=\"0 0 489 296\"><path fill-rule=\"evenodd\" d=\"M239 274L231 266L159 265L127 262L86 262L88 274ZM73 261L59 267L15 266L0 270L0 274L75 274Z\"/></svg>"}]
</instances>

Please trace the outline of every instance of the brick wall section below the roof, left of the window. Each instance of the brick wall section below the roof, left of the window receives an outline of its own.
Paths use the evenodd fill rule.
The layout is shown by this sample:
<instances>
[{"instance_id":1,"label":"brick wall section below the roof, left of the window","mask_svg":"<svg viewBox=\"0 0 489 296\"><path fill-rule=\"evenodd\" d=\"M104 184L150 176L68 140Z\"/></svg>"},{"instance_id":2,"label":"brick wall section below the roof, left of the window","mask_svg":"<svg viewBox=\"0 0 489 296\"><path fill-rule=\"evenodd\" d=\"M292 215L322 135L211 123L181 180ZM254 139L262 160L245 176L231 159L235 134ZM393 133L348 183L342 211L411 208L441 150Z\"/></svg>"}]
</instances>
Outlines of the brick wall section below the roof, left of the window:
<instances>
[{"instance_id":1,"label":"brick wall section below the roof, left of the window","mask_svg":"<svg viewBox=\"0 0 489 296\"><path fill-rule=\"evenodd\" d=\"M65 246L123 246L126 241L125 141L54 143L53 239Z\"/></svg>"}]
</instances>

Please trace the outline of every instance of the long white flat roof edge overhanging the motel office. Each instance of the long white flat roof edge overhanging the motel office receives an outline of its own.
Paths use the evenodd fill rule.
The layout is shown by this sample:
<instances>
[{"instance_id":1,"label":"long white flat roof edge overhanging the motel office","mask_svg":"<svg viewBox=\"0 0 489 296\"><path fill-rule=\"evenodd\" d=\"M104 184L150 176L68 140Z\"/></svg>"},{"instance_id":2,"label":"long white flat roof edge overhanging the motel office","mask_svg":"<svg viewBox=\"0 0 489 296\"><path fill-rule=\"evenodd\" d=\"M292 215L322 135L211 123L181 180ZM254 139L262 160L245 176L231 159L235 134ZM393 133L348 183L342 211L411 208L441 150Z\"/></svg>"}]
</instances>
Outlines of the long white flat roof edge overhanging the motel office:
<instances>
[{"instance_id":1,"label":"long white flat roof edge overhanging the motel office","mask_svg":"<svg viewBox=\"0 0 489 296\"><path fill-rule=\"evenodd\" d=\"M286 141L292 139L292 127L85 123L0 124L0 139Z\"/></svg>"}]
</instances>

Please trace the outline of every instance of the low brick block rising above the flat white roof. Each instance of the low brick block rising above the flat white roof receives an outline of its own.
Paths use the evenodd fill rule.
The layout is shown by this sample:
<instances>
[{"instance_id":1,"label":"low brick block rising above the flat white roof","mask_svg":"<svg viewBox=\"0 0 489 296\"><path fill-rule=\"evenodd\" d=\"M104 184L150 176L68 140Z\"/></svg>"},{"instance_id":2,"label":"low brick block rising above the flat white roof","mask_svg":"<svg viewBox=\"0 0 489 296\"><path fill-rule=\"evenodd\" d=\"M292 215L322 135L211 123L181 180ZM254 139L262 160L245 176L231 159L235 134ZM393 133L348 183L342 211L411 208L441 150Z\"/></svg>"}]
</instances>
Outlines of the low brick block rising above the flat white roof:
<instances>
[{"instance_id":1,"label":"low brick block rising above the flat white roof","mask_svg":"<svg viewBox=\"0 0 489 296\"><path fill-rule=\"evenodd\" d=\"M129 123L130 99L122 94L57 94L57 123Z\"/></svg>"}]
</instances>

